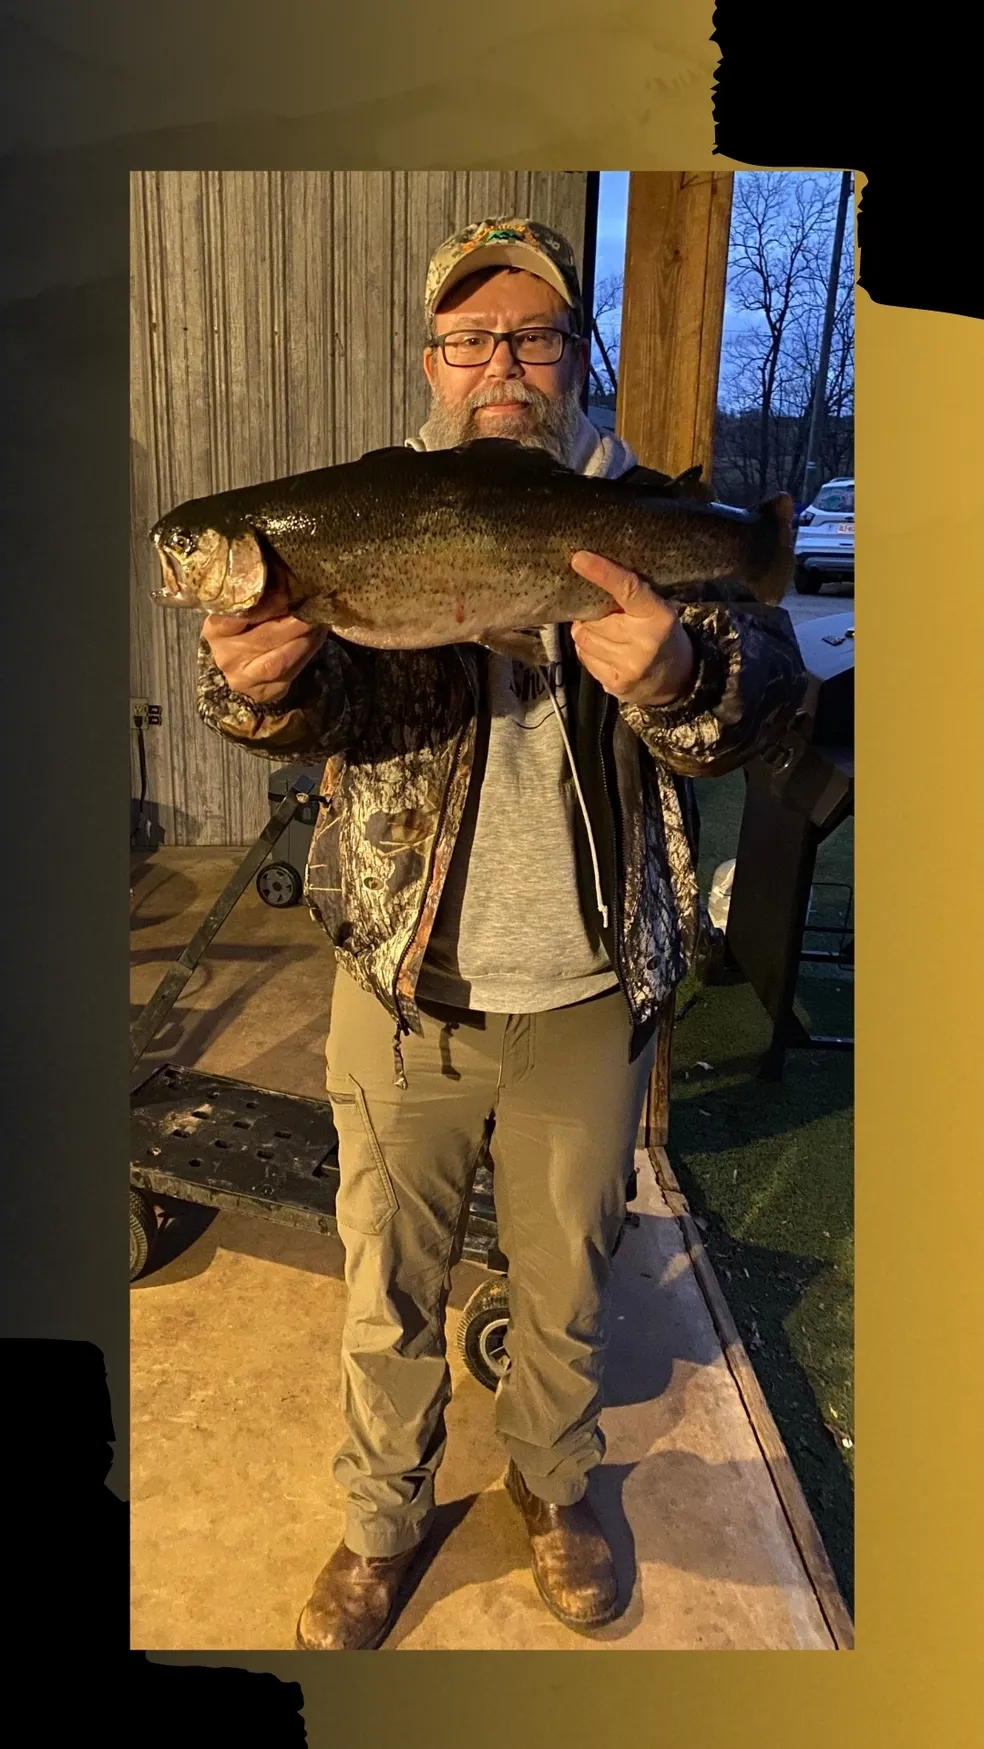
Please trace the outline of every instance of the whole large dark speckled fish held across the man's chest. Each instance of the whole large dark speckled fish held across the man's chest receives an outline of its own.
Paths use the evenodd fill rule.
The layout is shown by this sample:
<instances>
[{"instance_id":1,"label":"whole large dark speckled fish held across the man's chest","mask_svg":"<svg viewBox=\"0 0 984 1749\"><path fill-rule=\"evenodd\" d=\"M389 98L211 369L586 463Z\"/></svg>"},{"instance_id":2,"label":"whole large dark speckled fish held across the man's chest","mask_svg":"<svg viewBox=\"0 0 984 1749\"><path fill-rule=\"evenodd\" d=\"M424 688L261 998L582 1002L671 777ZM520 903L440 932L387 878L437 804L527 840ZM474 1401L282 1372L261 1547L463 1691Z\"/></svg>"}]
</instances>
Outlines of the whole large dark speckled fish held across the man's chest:
<instances>
[{"instance_id":1,"label":"whole large dark speckled fish held across the man's chest","mask_svg":"<svg viewBox=\"0 0 984 1749\"><path fill-rule=\"evenodd\" d=\"M290 610L376 649L488 644L516 628L601 619L613 600L572 570L577 551L657 593L720 579L781 600L792 504L759 514L589 479L491 437L458 449L378 449L339 467L178 505L152 530L157 600L246 612L278 568Z\"/></svg>"}]
</instances>

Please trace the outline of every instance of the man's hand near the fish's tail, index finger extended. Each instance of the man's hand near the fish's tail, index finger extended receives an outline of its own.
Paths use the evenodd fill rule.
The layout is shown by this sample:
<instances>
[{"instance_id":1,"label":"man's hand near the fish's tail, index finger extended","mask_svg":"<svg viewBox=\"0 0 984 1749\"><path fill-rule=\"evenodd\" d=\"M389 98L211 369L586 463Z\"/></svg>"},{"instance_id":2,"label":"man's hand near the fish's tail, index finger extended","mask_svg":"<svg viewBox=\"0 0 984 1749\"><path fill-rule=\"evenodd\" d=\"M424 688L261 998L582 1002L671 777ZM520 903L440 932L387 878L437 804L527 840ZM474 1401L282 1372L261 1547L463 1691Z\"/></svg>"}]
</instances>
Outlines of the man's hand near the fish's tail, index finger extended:
<instances>
[{"instance_id":1,"label":"man's hand near the fish's tail, index finger extended","mask_svg":"<svg viewBox=\"0 0 984 1749\"><path fill-rule=\"evenodd\" d=\"M675 705L694 684L694 645L675 607L598 553L575 553L572 568L606 589L617 612L575 619L577 654L589 673L626 705Z\"/></svg>"}]
</instances>

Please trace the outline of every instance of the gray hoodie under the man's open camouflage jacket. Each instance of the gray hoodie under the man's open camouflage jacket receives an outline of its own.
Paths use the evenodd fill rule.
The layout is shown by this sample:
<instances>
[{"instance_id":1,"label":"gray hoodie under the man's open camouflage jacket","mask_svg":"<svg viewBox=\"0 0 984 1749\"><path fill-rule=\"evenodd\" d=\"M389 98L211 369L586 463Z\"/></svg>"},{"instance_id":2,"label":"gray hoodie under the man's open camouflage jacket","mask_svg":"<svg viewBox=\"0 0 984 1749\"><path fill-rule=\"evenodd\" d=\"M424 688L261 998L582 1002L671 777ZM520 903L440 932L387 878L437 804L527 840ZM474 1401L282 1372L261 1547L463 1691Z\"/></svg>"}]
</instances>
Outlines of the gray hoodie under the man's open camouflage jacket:
<instances>
[{"instance_id":1,"label":"gray hoodie under the man's open camouflage jacket","mask_svg":"<svg viewBox=\"0 0 984 1749\"><path fill-rule=\"evenodd\" d=\"M418 439L411 448L423 449ZM573 465L619 477L636 465L619 437L582 416ZM465 817L418 995L491 1014L533 1014L582 1002L619 983L589 937L579 901L573 810L579 806L563 722L559 635L533 672L488 659L488 743L472 775ZM552 694L552 698L551 698Z\"/></svg>"}]
</instances>

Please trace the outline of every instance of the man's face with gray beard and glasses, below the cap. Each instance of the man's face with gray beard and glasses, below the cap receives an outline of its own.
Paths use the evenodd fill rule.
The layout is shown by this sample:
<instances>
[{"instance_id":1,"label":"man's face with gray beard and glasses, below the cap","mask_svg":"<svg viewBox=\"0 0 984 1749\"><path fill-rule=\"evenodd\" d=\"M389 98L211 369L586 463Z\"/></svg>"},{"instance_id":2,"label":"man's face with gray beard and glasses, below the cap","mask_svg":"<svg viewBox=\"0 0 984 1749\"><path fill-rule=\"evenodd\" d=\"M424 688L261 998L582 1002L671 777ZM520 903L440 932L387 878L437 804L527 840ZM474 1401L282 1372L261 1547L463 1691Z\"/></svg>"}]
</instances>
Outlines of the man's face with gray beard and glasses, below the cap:
<instances>
[{"instance_id":1,"label":"man's face with gray beard and glasses, below the cap","mask_svg":"<svg viewBox=\"0 0 984 1749\"><path fill-rule=\"evenodd\" d=\"M435 334L454 329L512 334L524 327L570 332L572 311L545 280L507 268L461 280L433 318ZM433 394L425 430L437 446L512 437L570 460L587 369L582 339L568 345L558 364L517 364L502 341L488 364L454 367L439 348L428 348L423 367Z\"/></svg>"}]
</instances>

